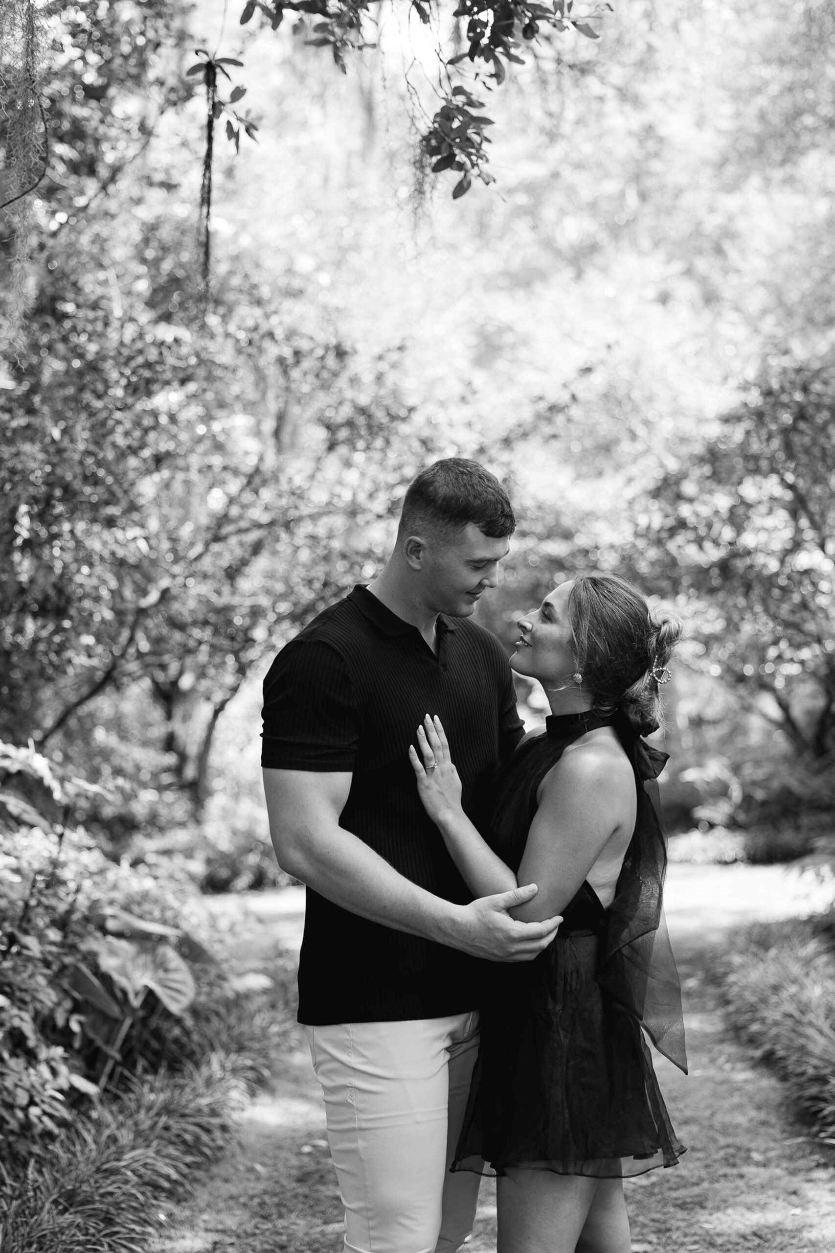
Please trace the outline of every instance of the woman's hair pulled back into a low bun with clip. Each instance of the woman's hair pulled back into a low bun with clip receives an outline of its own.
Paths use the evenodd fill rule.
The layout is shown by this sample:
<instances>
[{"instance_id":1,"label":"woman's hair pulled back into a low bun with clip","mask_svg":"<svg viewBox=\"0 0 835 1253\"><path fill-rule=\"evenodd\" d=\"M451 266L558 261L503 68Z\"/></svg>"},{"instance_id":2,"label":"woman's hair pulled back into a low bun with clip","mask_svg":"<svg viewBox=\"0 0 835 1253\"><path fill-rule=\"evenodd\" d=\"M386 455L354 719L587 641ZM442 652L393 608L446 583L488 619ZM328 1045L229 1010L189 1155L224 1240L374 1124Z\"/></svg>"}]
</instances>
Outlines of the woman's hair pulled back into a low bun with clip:
<instances>
[{"instance_id":1,"label":"woman's hair pulled back into a low bun with clip","mask_svg":"<svg viewBox=\"0 0 835 1253\"><path fill-rule=\"evenodd\" d=\"M652 613L637 588L616 574L581 574L573 580L568 615L575 662L593 710L621 708L640 736L661 720L658 684L681 639L681 621Z\"/></svg>"}]
</instances>

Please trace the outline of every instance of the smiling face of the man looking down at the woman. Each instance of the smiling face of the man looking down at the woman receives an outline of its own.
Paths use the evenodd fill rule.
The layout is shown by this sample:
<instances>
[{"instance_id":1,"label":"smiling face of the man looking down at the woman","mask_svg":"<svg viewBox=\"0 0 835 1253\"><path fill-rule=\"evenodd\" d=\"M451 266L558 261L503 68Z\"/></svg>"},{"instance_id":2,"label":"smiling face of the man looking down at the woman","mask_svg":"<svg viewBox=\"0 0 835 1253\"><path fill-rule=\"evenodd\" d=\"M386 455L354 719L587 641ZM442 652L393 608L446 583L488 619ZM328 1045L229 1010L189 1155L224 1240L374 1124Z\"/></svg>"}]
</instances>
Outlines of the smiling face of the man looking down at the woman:
<instances>
[{"instance_id":1,"label":"smiling face of the man looking down at the woman","mask_svg":"<svg viewBox=\"0 0 835 1253\"><path fill-rule=\"evenodd\" d=\"M507 539L491 539L474 523L446 539L424 540L421 591L427 608L452 618L469 618L481 595L498 583L498 563L510 549Z\"/></svg>"}]
</instances>

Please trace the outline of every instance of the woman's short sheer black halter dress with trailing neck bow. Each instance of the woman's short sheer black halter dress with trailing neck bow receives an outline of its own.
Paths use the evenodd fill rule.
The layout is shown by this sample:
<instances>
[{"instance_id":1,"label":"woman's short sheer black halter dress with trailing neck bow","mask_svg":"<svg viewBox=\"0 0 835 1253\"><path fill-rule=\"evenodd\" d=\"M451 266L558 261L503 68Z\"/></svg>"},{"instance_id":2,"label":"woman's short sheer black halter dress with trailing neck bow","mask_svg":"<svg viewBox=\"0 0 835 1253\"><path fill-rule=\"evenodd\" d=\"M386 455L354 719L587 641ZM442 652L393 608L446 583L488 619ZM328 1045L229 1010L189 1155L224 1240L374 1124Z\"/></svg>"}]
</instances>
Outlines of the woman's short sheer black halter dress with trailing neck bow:
<instances>
[{"instance_id":1,"label":"woman's short sheer black halter dress with trailing neck bow","mask_svg":"<svg viewBox=\"0 0 835 1253\"><path fill-rule=\"evenodd\" d=\"M686 1073L681 992L663 925L666 845L656 776L666 756L628 719L567 714L507 759L486 797L484 836L517 871L540 783L566 747L612 725L635 772L637 817L615 898L583 882L557 938L532 962L496 965L453 1170L507 1167L617 1178L676 1163L643 1031Z\"/></svg>"}]
</instances>

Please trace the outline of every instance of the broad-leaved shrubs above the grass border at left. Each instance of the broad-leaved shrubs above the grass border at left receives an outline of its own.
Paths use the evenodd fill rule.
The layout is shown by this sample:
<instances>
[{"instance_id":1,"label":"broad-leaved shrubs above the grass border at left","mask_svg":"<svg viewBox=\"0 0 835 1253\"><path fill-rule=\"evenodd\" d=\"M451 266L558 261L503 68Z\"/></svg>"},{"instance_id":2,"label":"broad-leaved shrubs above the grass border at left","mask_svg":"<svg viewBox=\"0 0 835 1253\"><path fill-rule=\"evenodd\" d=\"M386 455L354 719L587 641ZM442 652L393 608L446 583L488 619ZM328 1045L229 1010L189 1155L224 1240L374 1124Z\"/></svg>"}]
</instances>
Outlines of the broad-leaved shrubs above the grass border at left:
<instances>
[{"instance_id":1,"label":"broad-leaved shrubs above the grass border at left","mask_svg":"<svg viewBox=\"0 0 835 1253\"><path fill-rule=\"evenodd\" d=\"M217 962L173 925L195 911L170 887L108 862L83 831L43 817L31 824L33 799L65 809L78 781L11 746L0 746L0 1141L4 1160L20 1164L61 1131L70 1098L98 1098L130 1071L210 1051L198 1032L183 1048L184 1012L195 999L193 969ZM170 921L123 907L143 900ZM212 979L228 1001L229 989Z\"/></svg>"}]
</instances>

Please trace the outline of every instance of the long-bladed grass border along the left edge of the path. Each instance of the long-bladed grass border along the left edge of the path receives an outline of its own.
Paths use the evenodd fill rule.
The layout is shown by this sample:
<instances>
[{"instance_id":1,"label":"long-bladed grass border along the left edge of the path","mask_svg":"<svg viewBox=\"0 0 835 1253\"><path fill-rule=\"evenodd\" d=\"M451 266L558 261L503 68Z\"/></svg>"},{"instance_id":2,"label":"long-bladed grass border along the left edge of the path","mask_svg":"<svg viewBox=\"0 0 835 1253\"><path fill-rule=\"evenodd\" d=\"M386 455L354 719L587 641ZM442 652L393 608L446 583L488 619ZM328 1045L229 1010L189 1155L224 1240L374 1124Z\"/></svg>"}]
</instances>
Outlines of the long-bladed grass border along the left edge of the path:
<instances>
[{"instance_id":1,"label":"long-bladed grass border along the left edge of the path","mask_svg":"<svg viewBox=\"0 0 835 1253\"><path fill-rule=\"evenodd\" d=\"M262 1086L287 1030L292 969L270 964L265 991L194 1007L185 1060L141 1074L86 1113L25 1174L0 1167L0 1253L144 1253L160 1207L235 1136L235 1111Z\"/></svg>"}]
</instances>

